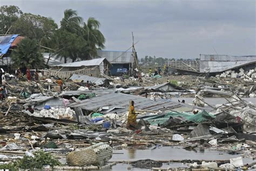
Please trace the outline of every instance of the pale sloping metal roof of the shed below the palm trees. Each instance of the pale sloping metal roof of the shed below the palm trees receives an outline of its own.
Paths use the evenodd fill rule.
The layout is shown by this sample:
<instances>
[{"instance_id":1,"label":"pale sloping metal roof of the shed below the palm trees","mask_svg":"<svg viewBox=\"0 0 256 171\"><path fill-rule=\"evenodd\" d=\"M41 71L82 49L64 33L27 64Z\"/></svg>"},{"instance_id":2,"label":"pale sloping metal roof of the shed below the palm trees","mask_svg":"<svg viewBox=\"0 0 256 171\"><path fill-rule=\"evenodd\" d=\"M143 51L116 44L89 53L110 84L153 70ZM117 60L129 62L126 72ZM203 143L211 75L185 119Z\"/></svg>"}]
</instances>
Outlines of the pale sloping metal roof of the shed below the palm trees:
<instances>
[{"instance_id":1,"label":"pale sloping metal roof of the shed below the palm trees","mask_svg":"<svg viewBox=\"0 0 256 171\"><path fill-rule=\"evenodd\" d=\"M66 63L66 64L59 64L59 65L53 65L53 66L62 66L62 67L96 66L96 65L100 65L105 59L106 58L82 60L82 61L75 61L74 63Z\"/></svg>"}]
</instances>

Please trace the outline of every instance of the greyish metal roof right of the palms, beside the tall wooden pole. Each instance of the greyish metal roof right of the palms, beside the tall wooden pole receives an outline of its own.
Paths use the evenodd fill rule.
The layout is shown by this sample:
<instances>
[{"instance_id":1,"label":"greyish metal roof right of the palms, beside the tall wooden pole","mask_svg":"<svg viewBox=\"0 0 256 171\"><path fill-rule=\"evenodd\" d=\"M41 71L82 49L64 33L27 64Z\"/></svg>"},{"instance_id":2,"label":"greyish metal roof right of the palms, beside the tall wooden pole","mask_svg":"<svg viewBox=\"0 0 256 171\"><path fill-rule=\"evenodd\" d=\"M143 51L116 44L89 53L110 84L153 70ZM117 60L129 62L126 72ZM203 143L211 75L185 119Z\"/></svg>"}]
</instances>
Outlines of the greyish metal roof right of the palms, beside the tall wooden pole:
<instances>
[{"instance_id":1,"label":"greyish metal roof right of the palms, beside the tall wooden pole","mask_svg":"<svg viewBox=\"0 0 256 171\"><path fill-rule=\"evenodd\" d=\"M111 64L114 63L133 63L134 58L132 52L118 52L118 51L97 51L98 56L106 58Z\"/></svg>"}]
</instances>

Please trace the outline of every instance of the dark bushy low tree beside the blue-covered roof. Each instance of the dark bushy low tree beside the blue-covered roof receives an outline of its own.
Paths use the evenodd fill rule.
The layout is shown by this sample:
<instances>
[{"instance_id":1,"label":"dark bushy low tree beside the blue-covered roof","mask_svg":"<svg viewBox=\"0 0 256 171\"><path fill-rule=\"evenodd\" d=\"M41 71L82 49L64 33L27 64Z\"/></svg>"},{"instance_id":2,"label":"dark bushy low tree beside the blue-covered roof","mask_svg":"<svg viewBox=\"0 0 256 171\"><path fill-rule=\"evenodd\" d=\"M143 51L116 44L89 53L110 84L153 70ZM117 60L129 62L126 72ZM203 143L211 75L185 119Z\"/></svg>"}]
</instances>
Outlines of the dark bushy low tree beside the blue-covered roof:
<instances>
[{"instance_id":1,"label":"dark bushy low tree beside the blue-covered roof","mask_svg":"<svg viewBox=\"0 0 256 171\"><path fill-rule=\"evenodd\" d=\"M25 38L12 51L11 60L15 67L39 68L44 63L43 54L36 39Z\"/></svg>"}]
</instances>

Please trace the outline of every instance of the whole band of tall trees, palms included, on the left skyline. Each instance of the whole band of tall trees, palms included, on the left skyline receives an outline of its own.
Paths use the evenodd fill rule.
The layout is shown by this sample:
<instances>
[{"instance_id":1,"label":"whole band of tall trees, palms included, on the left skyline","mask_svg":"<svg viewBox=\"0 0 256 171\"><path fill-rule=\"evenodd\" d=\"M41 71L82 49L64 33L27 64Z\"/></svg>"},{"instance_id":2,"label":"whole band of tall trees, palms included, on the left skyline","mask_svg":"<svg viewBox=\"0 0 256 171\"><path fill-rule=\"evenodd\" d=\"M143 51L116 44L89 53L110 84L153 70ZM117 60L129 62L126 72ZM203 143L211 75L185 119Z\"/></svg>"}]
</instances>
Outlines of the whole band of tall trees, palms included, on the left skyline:
<instances>
[{"instance_id":1,"label":"whole band of tall trees, palms included, on the left skyline","mask_svg":"<svg viewBox=\"0 0 256 171\"><path fill-rule=\"evenodd\" d=\"M10 34L36 39L39 45L55 50L55 54L63 57L65 62L68 58L72 61L87 60L96 57L98 49L104 49L105 37L99 26L99 21L93 17L83 22L83 18L72 9L64 11L58 29L51 18L23 13L17 6L0 8L0 33L4 34L11 28Z\"/></svg>"}]
</instances>

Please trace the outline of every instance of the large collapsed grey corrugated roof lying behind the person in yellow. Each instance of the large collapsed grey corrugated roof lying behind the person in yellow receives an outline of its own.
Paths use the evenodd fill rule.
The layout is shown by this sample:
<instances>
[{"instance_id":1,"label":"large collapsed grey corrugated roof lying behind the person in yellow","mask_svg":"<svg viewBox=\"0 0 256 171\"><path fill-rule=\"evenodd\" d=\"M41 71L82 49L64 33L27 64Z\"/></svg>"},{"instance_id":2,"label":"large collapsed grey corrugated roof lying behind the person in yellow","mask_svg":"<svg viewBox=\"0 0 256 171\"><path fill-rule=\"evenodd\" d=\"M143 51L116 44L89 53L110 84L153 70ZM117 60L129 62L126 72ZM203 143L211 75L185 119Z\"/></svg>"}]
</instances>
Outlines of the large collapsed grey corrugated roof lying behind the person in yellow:
<instances>
[{"instance_id":1,"label":"large collapsed grey corrugated roof lying behind the person in yellow","mask_svg":"<svg viewBox=\"0 0 256 171\"><path fill-rule=\"evenodd\" d=\"M164 107L176 108L180 107L178 102L173 102L171 100L158 99L156 101L150 100L149 98L140 97L136 95L129 95L123 93L107 93L98 95L94 98L82 100L70 104L71 107L81 107L89 111L97 111L100 107L124 107L115 109L111 112L124 113L127 112L130 100L135 102L136 110L147 110L147 111L159 111L163 110ZM107 113L106 111L101 111L101 113Z\"/></svg>"}]
</instances>

